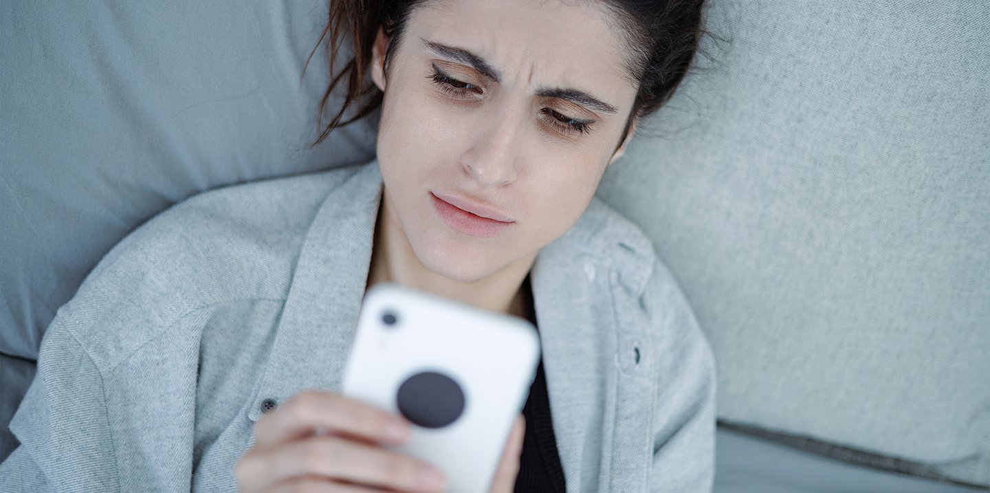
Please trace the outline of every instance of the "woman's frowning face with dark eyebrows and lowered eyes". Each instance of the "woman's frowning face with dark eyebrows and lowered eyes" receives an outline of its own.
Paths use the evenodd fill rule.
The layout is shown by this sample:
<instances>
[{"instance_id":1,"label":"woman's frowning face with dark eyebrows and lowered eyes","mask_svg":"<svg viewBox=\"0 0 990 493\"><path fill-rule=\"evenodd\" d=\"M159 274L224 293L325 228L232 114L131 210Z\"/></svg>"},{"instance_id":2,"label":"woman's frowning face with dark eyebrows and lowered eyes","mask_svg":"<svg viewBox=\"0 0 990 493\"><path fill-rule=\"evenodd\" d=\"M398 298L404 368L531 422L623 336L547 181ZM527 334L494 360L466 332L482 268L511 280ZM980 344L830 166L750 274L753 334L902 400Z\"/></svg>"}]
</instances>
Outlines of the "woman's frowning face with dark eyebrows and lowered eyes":
<instances>
[{"instance_id":1,"label":"woman's frowning face with dark eyebrows and lowered eyes","mask_svg":"<svg viewBox=\"0 0 990 493\"><path fill-rule=\"evenodd\" d=\"M427 269L480 281L532 262L581 216L637 92L615 26L596 2L430 2L387 80L379 33L383 217Z\"/></svg>"}]
</instances>

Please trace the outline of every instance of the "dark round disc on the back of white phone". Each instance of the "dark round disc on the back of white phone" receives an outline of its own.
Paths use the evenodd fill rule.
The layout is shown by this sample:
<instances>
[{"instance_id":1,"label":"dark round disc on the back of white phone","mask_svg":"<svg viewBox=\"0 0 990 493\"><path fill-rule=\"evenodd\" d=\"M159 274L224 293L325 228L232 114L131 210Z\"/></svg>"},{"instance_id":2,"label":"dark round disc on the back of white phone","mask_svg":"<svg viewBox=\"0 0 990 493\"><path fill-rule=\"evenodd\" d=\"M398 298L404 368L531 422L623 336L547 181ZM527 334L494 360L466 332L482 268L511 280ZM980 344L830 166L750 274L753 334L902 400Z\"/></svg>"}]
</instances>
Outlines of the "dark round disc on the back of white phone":
<instances>
[{"instance_id":1,"label":"dark round disc on the back of white phone","mask_svg":"<svg viewBox=\"0 0 990 493\"><path fill-rule=\"evenodd\" d=\"M424 428L443 428L464 412L464 392L453 378L436 371L410 376L396 395L399 412Z\"/></svg>"}]
</instances>

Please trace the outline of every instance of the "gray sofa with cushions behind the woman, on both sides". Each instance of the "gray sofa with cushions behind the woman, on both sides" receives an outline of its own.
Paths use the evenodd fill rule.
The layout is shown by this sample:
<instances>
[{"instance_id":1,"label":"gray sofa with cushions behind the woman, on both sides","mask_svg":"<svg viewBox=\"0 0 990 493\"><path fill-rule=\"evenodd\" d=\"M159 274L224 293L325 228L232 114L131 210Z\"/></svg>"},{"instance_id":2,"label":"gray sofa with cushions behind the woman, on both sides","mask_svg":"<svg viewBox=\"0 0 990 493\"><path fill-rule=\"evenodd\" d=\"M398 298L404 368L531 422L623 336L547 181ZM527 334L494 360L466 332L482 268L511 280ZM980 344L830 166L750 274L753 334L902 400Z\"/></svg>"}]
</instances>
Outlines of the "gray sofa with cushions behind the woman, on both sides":
<instances>
[{"instance_id":1,"label":"gray sofa with cushions behind the woman, on both sides","mask_svg":"<svg viewBox=\"0 0 990 493\"><path fill-rule=\"evenodd\" d=\"M0 5L0 458L58 306L198 192L315 149L304 0ZM712 1L711 58L606 175L719 372L716 491L990 489L990 3ZM721 40L721 41L719 41Z\"/></svg>"}]
</instances>

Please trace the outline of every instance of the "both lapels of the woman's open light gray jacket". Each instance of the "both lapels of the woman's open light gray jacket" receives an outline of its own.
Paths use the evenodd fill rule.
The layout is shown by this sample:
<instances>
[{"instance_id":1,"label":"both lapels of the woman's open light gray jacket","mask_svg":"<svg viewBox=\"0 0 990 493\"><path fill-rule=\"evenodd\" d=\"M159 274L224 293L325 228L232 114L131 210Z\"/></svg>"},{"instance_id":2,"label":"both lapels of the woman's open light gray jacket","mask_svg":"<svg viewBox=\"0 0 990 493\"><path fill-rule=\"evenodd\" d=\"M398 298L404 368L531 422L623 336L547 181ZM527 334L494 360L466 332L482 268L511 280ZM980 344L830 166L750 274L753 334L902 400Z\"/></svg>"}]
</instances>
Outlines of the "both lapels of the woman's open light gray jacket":
<instances>
[{"instance_id":1,"label":"both lapels of the woman's open light gray jacket","mask_svg":"<svg viewBox=\"0 0 990 493\"><path fill-rule=\"evenodd\" d=\"M249 404L252 421L265 399L281 402L305 388L342 387L382 190L377 161L349 173L306 235L264 376ZM628 325L617 322L615 296L638 297L652 269L650 243L624 221L594 199L567 233L545 246L531 273L547 393L558 410L554 435L568 484L607 467L615 354L624 339L618 331ZM605 450L584 450L589 443Z\"/></svg>"}]
</instances>

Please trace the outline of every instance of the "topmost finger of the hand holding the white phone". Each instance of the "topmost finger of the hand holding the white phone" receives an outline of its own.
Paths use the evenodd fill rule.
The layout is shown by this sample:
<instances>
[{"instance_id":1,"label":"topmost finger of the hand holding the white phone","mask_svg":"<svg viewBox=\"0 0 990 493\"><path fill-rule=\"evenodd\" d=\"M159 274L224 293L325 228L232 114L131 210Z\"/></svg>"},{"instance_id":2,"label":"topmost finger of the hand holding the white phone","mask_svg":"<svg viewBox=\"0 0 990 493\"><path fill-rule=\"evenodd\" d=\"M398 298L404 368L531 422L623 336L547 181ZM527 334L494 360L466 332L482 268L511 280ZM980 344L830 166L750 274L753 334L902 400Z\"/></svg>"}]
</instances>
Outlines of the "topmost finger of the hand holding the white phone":
<instances>
[{"instance_id":1,"label":"topmost finger of the hand holding the white phone","mask_svg":"<svg viewBox=\"0 0 990 493\"><path fill-rule=\"evenodd\" d=\"M337 394L306 391L261 416L254 426L258 446L309 436L314 430L354 436L383 444L409 439L409 424L398 416Z\"/></svg>"}]
</instances>

